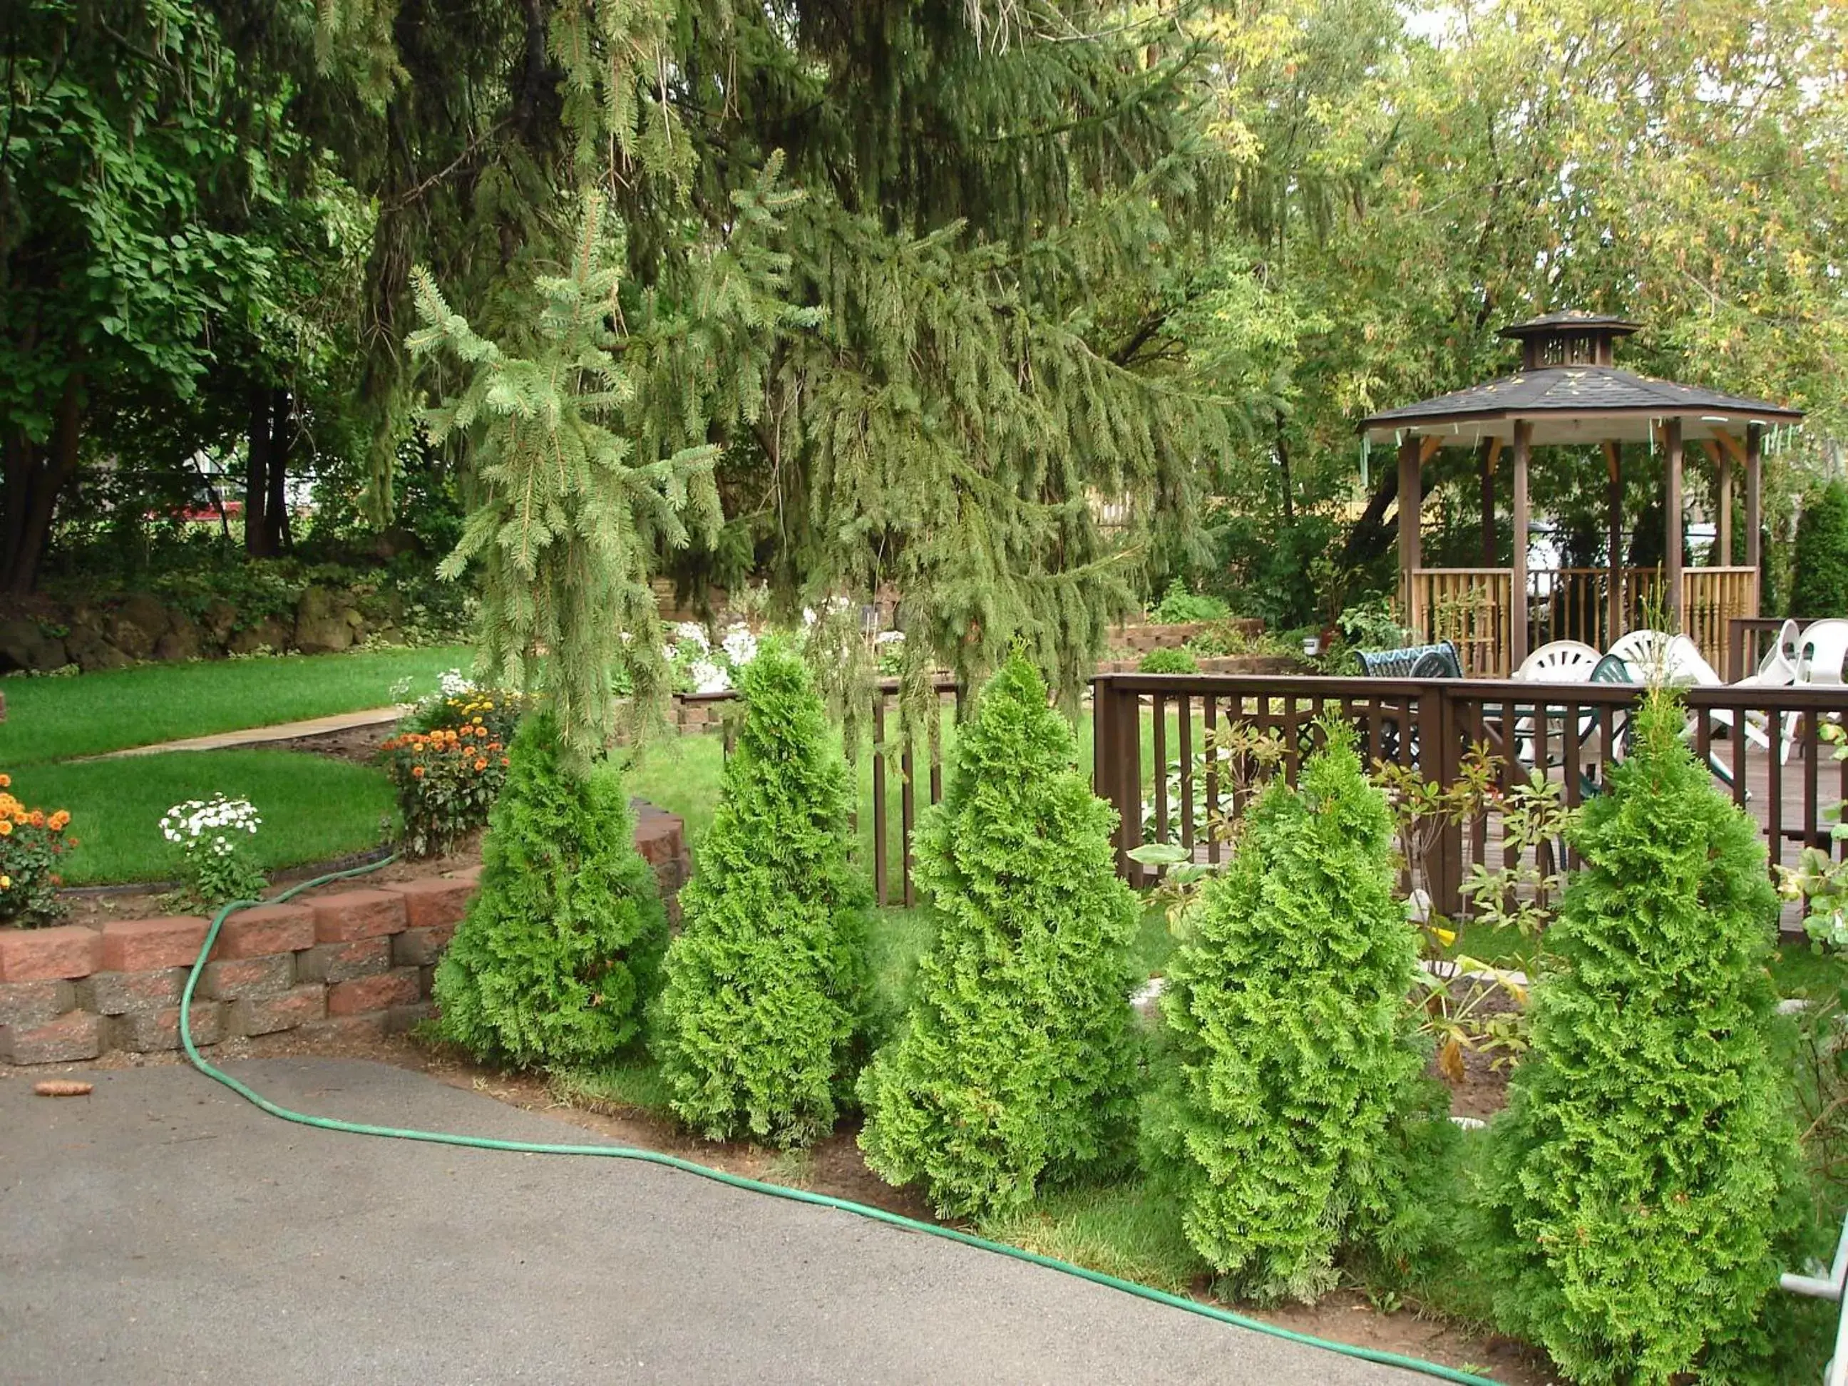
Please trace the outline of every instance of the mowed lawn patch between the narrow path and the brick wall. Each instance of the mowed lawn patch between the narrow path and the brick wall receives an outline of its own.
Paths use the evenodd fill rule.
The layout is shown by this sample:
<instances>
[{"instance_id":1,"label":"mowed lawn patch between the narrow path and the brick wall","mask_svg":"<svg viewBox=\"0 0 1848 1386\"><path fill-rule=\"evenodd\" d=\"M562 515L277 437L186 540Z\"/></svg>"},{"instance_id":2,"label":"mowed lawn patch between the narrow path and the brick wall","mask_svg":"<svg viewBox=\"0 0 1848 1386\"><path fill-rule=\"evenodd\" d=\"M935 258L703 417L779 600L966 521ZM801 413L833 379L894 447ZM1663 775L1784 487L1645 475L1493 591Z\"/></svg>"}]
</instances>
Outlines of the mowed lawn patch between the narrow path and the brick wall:
<instances>
[{"instance_id":1,"label":"mowed lawn patch between the narrow path and the brick wall","mask_svg":"<svg viewBox=\"0 0 1848 1386\"><path fill-rule=\"evenodd\" d=\"M290 750L176 750L13 772L26 804L70 809L78 846L59 867L70 885L174 880L177 848L161 837L161 815L218 791L257 806L253 852L266 870L379 846L397 817L383 771Z\"/></svg>"}]
</instances>

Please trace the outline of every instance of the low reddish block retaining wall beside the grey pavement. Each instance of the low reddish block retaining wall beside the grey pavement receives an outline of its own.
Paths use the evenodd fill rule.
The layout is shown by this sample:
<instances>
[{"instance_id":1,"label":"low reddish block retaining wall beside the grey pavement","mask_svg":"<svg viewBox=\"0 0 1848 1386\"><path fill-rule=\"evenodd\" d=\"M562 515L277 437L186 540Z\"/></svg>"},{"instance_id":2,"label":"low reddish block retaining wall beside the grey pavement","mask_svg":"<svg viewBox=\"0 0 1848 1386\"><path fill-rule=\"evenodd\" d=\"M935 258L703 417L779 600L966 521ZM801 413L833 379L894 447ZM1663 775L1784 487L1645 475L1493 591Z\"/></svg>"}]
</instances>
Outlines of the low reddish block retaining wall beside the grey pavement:
<instances>
[{"instance_id":1,"label":"low reddish block retaining wall beside the grey pavement","mask_svg":"<svg viewBox=\"0 0 1848 1386\"><path fill-rule=\"evenodd\" d=\"M689 859L680 819L636 806L636 846L669 900ZM305 894L224 922L192 996L200 1046L298 1031L401 1031L431 1015L436 959L480 867ZM76 1063L179 1048L179 998L205 942L196 915L0 930L0 1061Z\"/></svg>"}]
</instances>

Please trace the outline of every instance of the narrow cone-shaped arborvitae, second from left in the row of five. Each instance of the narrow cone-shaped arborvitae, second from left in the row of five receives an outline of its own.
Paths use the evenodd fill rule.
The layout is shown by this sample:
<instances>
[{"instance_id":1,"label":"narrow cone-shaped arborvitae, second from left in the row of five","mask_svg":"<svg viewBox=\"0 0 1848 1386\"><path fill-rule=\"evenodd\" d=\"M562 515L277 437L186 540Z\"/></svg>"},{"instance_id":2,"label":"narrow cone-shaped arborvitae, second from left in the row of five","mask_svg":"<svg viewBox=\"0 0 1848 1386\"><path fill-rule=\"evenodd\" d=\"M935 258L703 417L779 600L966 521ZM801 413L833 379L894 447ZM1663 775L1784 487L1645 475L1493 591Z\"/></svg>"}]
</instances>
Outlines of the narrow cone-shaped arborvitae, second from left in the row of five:
<instances>
[{"instance_id":1,"label":"narrow cone-shaped arborvitae, second from left in the row of five","mask_svg":"<svg viewBox=\"0 0 1848 1386\"><path fill-rule=\"evenodd\" d=\"M741 691L652 1048L687 1125L806 1144L833 1129L863 1057L870 900L846 859L846 763L802 660L765 645Z\"/></svg>"}]
</instances>

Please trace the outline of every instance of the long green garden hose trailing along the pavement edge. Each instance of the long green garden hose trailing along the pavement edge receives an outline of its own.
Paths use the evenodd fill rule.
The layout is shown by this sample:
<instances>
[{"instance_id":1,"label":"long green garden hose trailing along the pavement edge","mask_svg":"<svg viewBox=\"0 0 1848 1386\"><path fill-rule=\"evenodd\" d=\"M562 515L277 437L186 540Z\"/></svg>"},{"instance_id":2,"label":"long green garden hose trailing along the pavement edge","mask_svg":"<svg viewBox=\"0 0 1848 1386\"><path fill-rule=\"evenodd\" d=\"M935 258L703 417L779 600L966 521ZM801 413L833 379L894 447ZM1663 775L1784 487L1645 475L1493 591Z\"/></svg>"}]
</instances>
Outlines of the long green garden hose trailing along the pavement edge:
<instances>
[{"instance_id":1,"label":"long green garden hose trailing along the pavement edge","mask_svg":"<svg viewBox=\"0 0 1848 1386\"><path fill-rule=\"evenodd\" d=\"M1419 1371L1427 1377L1436 1377L1438 1380L1458 1380L1467 1382L1467 1386L1495 1386L1488 1377L1477 1377L1469 1371L1458 1371L1456 1368L1447 1368L1438 1362L1423 1362L1416 1356L1403 1356L1399 1353L1384 1353L1375 1347L1356 1347L1353 1343L1338 1343L1327 1338L1314 1338L1307 1332L1292 1332L1290 1329L1281 1329L1275 1323L1264 1323L1262 1319L1251 1319L1244 1314L1234 1314L1229 1308L1220 1308L1216 1305L1201 1305L1194 1299L1185 1299L1181 1295L1172 1295L1162 1290L1151 1290L1146 1284L1137 1284L1135 1281L1124 1281L1116 1275L1105 1275L1103 1271L1085 1270L1083 1266L1074 1266L1068 1260L1057 1260L1053 1257L1042 1257L1037 1251L1026 1251L1016 1246L1007 1246L1005 1242L991 1242L985 1236L976 1236L974 1233L963 1233L955 1227L941 1227L930 1222L918 1222L917 1218L906 1218L900 1212L887 1212L885 1209L874 1209L867 1203L854 1203L845 1198L830 1198L828 1194L811 1194L804 1188L784 1188L780 1185L767 1185L760 1179L747 1179L739 1173L726 1173L724 1170L713 1170L706 1164L695 1164L693 1161L684 1161L676 1155L663 1155L658 1149L636 1149L634 1146L562 1146L536 1140L492 1140L488 1137L464 1137L451 1131L407 1131L395 1125L371 1125L368 1122L342 1122L336 1116L310 1116L307 1112L296 1112L288 1107L281 1107L261 1092L251 1090L244 1083L238 1083L231 1074L220 1068L213 1068L200 1053L198 1046L192 1042L192 989L200 981L200 972L205 968L205 959L211 957L213 944L218 941L218 930L224 922L235 915L238 909L249 909L262 904L283 904L303 891L312 891L316 885L327 885L329 881L347 880L351 876L364 876L368 872L388 867L394 857L384 857L383 861L371 861L364 867L353 867L351 870L333 870L325 876L316 876L314 880L301 881L299 885L290 885L286 891L275 894L270 900L233 900L224 909L213 917L213 926L205 931L205 942L200 946L198 961L194 961L192 970L187 974L187 989L179 998L179 1042L187 1052L187 1061L216 1083L224 1083L235 1094L246 1101L270 1112L270 1116L281 1116L285 1122L296 1122L298 1125L312 1125L322 1131L344 1131L355 1137L386 1137L390 1140L423 1140L434 1146L466 1146L469 1149L508 1149L519 1155L588 1155L595 1159L614 1159L614 1161L641 1161L645 1164L662 1164L669 1170L680 1170L682 1173L697 1173L700 1179L711 1179L721 1185L730 1185L732 1188L745 1188L752 1194L767 1194L771 1198L785 1198L793 1203L813 1203L821 1209L833 1209L835 1212L852 1212L856 1218L870 1218L872 1222L891 1223L893 1227L904 1227L907 1233L924 1233L926 1236L941 1236L946 1242L961 1242L963 1246L979 1247L981 1251L992 1251L998 1257L1013 1257L1015 1260L1026 1260L1033 1266L1044 1266L1046 1270L1061 1271L1063 1275L1076 1275L1081 1281L1090 1281L1092 1284L1107 1284L1111 1290L1122 1290L1124 1294L1137 1295L1138 1299L1151 1299L1157 1305L1168 1305L1170 1308L1186 1310L1188 1314L1199 1314L1201 1318L1218 1319L1220 1323L1231 1323L1238 1329L1249 1329L1253 1332L1264 1332L1271 1338L1283 1338L1284 1342L1303 1343L1307 1347L1321 1347L1329 1353L1340 1353L1342 1356L1355 1356L1362 1362L1379 1362L1388 1368L1401 1368L1403 1371Z\"/></svg>"}]
</instances>

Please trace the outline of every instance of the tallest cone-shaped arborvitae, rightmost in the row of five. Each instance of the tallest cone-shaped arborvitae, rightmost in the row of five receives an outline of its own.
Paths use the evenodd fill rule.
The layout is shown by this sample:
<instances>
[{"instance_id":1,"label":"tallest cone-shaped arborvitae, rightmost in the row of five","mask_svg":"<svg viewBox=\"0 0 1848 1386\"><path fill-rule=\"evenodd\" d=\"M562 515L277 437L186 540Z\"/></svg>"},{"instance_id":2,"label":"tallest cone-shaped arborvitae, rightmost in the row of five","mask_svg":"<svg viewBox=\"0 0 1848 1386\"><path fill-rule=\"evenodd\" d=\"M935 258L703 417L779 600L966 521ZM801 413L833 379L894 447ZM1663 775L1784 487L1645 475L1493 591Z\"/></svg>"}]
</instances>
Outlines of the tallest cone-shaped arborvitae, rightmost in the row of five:
<instances>
[{"instance_id":1,"label":"tallest cone-shaped arborvitae, rightmost in the row of five","mask_svg":"<svg viewBox=\"0 0 1848 1386\"><path fill-rule=\"evenodd\" d=\"M1778 1283L1796 1144L1770 1048L1776 896L1682 726L1652 693L1586 806L1480 1188L1497 1312L1574 1380L1737 1380Z\"/></svg>"}]
</instances>

